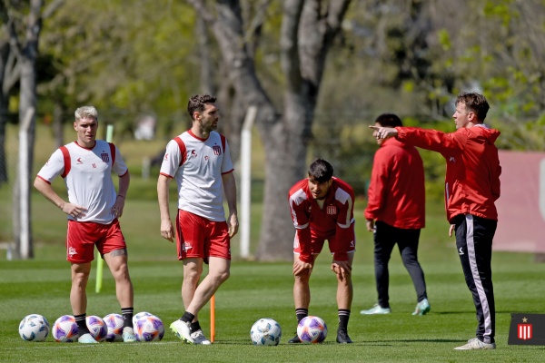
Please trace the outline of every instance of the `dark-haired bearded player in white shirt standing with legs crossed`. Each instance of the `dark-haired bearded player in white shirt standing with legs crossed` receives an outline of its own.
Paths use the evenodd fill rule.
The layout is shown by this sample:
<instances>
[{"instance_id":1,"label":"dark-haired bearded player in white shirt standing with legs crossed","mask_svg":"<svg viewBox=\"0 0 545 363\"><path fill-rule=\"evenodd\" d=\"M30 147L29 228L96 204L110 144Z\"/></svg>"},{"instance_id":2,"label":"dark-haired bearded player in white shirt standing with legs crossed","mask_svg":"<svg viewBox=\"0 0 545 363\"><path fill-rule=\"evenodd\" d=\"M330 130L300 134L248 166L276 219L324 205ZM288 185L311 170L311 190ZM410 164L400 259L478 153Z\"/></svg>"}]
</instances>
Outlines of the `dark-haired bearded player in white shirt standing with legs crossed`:
<instances>
[{"instance_id":1,"label":"dark-haired bearded player in white shirt standing with legs crossed","mask_svg":"<svg viewBox=\"0 0 545 363\"><path fill-rule=\"evenodd\" d=\"M170 328L182 341L210 344L204 337L198 313L214 292L229 278L230 240L238 231L236 184L229 146L214 130L220 120L216 98L194 95L187 104L192 128L166 145L157 182L161 211L161 235L173 242L178 260L183 260L182 299L185 312ZM169 185L178 184L176 232L168 206ZM223 192L229 217L225 220ZM199 283L203 262L208 274Z\"/></svg>"}]
</instances>

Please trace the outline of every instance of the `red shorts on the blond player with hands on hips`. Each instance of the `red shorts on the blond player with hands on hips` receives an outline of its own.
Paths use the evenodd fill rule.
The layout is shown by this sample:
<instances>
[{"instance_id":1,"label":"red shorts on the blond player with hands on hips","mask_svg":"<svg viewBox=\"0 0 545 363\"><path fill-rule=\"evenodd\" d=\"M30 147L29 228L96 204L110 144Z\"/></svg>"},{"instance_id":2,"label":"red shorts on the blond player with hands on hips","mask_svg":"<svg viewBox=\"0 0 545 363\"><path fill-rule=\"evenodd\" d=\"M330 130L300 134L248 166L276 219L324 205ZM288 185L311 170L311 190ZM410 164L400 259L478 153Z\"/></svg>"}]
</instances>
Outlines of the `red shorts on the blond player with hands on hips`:
<instances>
[{"instance_id":1,"label":"red shorts on the blond player with hands on hips","mask_svg":"<svg viewBox=\"0 0 545 363\"><path fill-rule=\"evenodd\" d=\"M102 256L113 250L127 248L119 221L110 224L93 221L68 221L66 260L87 263L94 260L94 245Z\"/></svg>"}]
</instances>

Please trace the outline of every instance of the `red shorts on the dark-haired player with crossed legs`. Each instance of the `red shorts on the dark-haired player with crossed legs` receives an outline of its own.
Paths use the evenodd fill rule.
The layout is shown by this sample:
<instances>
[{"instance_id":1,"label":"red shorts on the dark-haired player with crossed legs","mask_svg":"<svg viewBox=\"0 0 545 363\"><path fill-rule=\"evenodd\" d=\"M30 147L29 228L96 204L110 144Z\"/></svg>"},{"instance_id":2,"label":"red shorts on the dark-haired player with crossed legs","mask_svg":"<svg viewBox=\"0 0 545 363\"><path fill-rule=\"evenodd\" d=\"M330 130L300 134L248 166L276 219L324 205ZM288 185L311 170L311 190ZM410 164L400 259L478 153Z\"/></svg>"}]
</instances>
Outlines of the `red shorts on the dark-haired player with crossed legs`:
<instances>
[{"instance_id":1,"label":"red shorts on the dark-haired player with crossed legs","mask_svg":"<svg viewBox=\"0 0 545 363\"><path fill-rule=\"evenodd\" d=\"M208 257L231 260L231 239L226 221L210 221L189 211L178 210L176 218L178 260Z\"/></svg>"}]
</instances>

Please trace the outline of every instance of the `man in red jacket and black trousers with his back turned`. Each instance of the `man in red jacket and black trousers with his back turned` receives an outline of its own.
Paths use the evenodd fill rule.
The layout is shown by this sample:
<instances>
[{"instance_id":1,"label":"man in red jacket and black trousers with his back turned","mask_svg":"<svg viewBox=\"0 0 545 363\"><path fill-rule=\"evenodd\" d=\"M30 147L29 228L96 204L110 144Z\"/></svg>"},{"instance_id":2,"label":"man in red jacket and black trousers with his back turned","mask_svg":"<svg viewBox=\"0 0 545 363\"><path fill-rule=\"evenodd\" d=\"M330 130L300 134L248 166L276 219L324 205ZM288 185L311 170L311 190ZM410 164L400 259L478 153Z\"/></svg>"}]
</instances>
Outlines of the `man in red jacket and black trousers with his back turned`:
<instances>
[{"instance_id":1,"label":"man in red jacket and black trousers with his back turned","mask_svg":"<svg viewBox=\"0 0 545 363\"><path fill-rule=\"evenodd\" d=\"M375 126L397 127L402 123L396 114L383 113L377 117ZM418 261L418 241L426 218L424 165L414 146L395 139L377 139L377 143L380 148L372 163L365 219L367 231L373 232L379 300L372 309L361 313L390 314L388 261L397 243L403 265L416 289L417 304L412 315L425 315L430 311L430 303L424 272Z\"/></svg>"}]
</instances>

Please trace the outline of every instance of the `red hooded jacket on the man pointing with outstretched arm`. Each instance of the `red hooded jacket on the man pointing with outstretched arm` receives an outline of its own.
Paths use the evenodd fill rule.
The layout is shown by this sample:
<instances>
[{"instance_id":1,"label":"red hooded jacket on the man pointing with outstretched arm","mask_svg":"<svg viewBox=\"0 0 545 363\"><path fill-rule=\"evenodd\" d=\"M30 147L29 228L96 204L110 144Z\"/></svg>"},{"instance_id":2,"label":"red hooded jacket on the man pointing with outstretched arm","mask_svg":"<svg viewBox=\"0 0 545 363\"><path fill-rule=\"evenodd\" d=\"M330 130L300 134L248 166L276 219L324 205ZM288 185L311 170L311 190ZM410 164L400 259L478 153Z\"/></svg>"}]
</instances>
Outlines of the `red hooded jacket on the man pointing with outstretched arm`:
<instances>
[{"instance_id":1,"label":"red hooded jacket on the man pointing with outstretched arm","mask_svg":"<svg viewBox=\"0 0 545 363\"><path fill-rule=\"evenodd\" d=\"M447 219L459 214L498 221L494 201L500 198L500 159L494 142L498 130L485 125L445 133L396 127L397 139L422 149L441 152L447 161L445 209Z\"/></svg>"}]
</instances>

